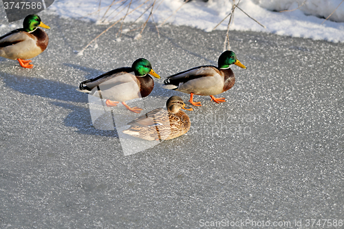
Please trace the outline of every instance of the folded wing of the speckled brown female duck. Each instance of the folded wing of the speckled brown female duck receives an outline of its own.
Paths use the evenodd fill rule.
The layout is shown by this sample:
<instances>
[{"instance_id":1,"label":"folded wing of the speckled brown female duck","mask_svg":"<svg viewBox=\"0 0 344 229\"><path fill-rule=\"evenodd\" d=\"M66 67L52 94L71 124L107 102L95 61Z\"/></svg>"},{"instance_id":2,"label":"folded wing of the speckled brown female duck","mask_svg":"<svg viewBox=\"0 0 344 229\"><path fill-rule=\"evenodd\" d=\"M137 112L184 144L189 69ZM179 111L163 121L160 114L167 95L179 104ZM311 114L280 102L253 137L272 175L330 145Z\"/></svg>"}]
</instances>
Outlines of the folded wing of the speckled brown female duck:
<instances>
[{"instance_id":1,"label":"folded wing of the speckled brown female duck","mask_svg":"<svg viewBox=\"0 0 344 229\"><path fill-rule=\"evenodd\" d=\"M149 111L148 113L136 118L131 122L128 122L127 124L146 127L169 124L169 113L164 108L157 108L153 111Z\"/></svg>"}]
</instances>

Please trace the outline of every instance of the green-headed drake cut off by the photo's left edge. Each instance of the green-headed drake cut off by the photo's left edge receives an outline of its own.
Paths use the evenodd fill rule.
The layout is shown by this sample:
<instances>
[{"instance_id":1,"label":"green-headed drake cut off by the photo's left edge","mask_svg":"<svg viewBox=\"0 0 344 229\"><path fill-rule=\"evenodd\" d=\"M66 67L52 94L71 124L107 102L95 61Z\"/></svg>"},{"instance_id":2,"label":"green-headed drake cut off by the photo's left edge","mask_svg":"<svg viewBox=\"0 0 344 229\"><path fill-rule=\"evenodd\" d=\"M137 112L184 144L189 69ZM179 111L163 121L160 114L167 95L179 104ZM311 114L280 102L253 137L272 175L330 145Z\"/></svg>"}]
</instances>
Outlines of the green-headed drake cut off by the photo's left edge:
<instances>
[{"instance_id":1,"label":"green-headed drake cut off by the photo's left edge","mask_svg":"<svg viewBox=\"0 0 344 229\"><path fill-rule=\"evenodd\" d=\"M21 67L32 68L31 61L24 60L41 54L49 42L47 34L37 27L50 29L36 14L25 17L23 28L0 37L0 56L19 61Z\"/></svg>"}]
</instances>

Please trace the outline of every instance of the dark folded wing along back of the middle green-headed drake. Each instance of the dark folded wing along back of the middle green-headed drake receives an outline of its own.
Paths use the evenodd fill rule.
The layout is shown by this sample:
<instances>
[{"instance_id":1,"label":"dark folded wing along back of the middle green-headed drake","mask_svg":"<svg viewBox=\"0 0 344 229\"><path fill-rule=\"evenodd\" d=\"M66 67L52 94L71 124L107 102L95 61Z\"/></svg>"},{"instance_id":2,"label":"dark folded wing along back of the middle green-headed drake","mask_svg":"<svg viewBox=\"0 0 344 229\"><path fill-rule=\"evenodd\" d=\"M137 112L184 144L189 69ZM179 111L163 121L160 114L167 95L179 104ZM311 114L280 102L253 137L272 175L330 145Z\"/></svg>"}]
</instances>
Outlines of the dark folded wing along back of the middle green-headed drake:
<instances>
[{"instance_id":1,"label":"dark folded wing along back of the middle green-headed drake","mask_svg":"<svg viewBox=\"0 0 344 229\"><path fill-rule=\"evenodd\" d=\"M98 85L105 83L107 80L111 80L118 76L122 76L123 74L128 74L129 72L132 72L131 67L120 67L118 69L114 69L110 72L107 72L103 75L100 75L96 78L85 80L80 83L79 91L89 93L92 91L92 89L94 89L94 87L97 87Z\"/></svg>"}]
</instances>

